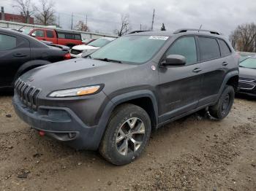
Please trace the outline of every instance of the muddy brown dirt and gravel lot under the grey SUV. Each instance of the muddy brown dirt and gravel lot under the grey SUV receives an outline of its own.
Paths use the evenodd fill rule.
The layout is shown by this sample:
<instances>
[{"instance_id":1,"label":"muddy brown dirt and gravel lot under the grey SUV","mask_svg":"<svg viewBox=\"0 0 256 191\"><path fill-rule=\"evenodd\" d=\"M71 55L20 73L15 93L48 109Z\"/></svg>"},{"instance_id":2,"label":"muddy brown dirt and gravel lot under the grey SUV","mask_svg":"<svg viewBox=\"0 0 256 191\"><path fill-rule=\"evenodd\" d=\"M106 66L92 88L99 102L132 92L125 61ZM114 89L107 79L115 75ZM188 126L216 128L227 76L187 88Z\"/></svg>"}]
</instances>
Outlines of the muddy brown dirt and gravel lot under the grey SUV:
<instances>
[{"instance_id":1,"label":"muddy brown dirt and gravel lot under the grey SUV","mask_svg":"<svg viewBox=\"0 0 256 191\"><path fill-rule=\"evenodd\" d=\"M39 137L1 96L0 190L256 190L256 100L237 98L221 122L172 122L135 163L116 167Z\"/></svg>"}]
</instances>

